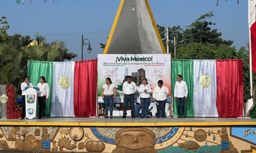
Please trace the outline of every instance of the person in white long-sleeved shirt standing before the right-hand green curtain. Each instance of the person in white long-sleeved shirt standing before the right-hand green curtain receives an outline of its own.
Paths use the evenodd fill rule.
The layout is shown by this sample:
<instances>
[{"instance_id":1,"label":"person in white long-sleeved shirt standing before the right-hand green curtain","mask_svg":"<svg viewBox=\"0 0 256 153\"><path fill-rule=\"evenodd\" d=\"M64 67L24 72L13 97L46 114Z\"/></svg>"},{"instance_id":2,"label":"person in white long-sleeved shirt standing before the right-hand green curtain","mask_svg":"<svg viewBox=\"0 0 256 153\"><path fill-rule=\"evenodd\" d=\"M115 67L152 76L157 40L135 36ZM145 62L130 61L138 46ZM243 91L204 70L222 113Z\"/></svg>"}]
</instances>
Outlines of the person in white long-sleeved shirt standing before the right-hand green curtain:
<instances>
[{"instance_id":1,"label":"person in white long-sleeved shirt standing before the right-hand green curtain","mask_svg":"<svg viewBox=\"0 0 256 153\"><path fill-rule=\"evenodd\" d=\"M174 99L177 100L178 104L178 118L180 118L180 106L181 106L181 115L182 118L185 118L184 116L184 110L185 110L185 99L187 99L187 83L182 80L182 75L177 76L177 82L175 83L174 88Z\"/></svg>"}]
</instances>

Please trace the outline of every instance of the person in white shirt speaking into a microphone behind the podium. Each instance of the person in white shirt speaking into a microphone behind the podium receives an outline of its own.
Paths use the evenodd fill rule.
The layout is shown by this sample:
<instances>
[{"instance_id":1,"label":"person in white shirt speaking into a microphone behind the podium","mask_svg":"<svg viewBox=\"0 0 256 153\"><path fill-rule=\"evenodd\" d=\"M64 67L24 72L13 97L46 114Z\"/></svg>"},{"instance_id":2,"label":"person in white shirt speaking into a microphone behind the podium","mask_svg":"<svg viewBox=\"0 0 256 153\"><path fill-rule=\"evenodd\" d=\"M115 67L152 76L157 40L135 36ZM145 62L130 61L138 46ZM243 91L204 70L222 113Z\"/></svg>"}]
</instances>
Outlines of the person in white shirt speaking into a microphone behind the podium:
<instances>
[{"instance_id":1,"label":"person in white shirt speaking into a microphone behind the podium","mask_svg":"<svg viewBox=\"0 0 256 153\"><path fill-rule=\"evenodd\" d=\"M20 85L20 88L21 88L21 91L22 91L22 116L21 116L21 120L23 120L25 118L25 114L26 114L26 102L25 102L25 89L26 87L32 87L32 83L29 83L29 77L25 77L24 78L24 82L21 83Z\"/></svg>"}]
</instances>

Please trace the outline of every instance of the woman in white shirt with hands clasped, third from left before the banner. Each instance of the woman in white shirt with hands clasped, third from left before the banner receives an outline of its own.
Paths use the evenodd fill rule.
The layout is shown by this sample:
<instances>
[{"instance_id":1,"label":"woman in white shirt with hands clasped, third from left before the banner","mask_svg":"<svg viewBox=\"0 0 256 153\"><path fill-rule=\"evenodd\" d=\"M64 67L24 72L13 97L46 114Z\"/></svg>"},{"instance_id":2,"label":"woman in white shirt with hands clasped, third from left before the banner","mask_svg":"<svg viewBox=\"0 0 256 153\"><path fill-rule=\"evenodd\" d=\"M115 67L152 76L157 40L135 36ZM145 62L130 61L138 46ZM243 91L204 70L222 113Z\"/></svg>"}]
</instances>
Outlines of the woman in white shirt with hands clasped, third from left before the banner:
<instances>
[{"instance_id":1,"label":"woman in white shirt with hands clasped, third from left before the banner","mask_svg":"<svg viewBox=\"0 0 256 153\"><path fill-rule=\"evenodd\" d=\"M149 118L149 103L150 103L150 93L151 87L147 83L147 79L142 80L142 84L139 87L140 93L140 103L142 104L141 116L140 118Z\"/></svg>"}]
</instances>

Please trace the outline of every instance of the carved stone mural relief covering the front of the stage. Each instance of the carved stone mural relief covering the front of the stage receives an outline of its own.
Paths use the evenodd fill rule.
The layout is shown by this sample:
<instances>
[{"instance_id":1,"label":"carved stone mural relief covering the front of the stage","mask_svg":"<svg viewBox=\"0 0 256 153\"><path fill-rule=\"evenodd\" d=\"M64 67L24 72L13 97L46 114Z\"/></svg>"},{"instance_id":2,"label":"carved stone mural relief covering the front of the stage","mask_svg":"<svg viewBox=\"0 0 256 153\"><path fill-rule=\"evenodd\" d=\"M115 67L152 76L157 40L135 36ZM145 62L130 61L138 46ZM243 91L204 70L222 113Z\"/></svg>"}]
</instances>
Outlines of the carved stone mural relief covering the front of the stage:
<instances>
[{"instance_id":1,"label":"carved stone mural relief covering the front of the stage","mask_svg":"<svg viewBox=\"0 0 256 153\"><path fill-rule=\"evenodd\" d=\"M255 131L255 126L2 126L0 152L253 153Z\"/></svg>"}]
</instances>

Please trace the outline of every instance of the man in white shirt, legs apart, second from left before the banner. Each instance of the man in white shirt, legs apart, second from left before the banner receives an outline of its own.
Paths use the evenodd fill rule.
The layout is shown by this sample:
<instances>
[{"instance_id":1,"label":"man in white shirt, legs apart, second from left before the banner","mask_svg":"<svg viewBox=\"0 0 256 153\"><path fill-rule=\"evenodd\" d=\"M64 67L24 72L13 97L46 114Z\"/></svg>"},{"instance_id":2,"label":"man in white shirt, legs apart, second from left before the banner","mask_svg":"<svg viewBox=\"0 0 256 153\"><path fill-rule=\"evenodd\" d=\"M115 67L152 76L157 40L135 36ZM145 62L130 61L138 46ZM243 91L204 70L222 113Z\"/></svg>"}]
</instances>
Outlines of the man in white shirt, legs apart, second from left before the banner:
<instances>
[{"instance_id":1,"label":"man in white shirt, legs apart, second from left before the banner","mask_svg":"<svg viewBox=\"0 0 256 153\"><path fill-rule=\"evenodd\" d=\"M123 85L122 85L122 91L125 94L125 96L124 96L125 107L124 107L122 118L126 118L126 115L127 115L126 111L127 111L129 103L131 105L131 117L135 118L135 114L134 114L134 93L136 92L136 90L137 90L136 84L131 81L131 76L128 76L127 81L124 82Z\"/></svg>"}]
</instances>

